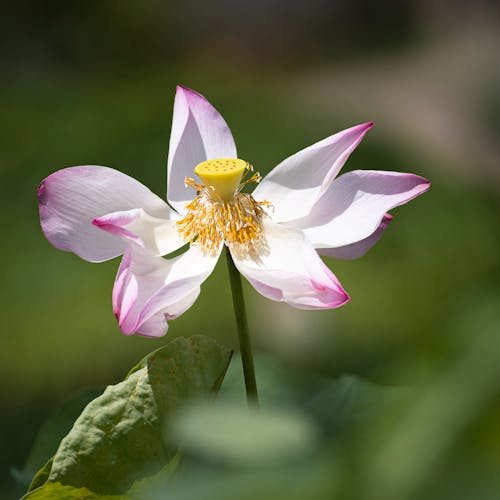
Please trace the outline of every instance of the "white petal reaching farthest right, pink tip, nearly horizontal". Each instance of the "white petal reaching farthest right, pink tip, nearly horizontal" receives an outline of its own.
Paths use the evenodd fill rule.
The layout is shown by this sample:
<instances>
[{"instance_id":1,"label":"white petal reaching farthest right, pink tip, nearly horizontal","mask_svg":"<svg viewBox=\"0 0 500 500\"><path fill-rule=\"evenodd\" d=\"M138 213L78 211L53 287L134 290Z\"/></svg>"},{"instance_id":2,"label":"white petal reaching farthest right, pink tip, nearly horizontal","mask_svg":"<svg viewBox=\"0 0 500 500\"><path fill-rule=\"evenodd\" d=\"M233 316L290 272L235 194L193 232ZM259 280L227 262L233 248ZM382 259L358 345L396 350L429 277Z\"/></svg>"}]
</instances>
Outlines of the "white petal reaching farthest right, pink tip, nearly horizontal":
<instances>
[{"instance_id":1,"label":"white petal reaching farthest right, pink tip, nearly horizontal","mask_svg":"<svg viewBox=\"0 0 500 500\"><path fill-rule=\"evenodd\" d=\"M429 189L414 174L356 170L340 176L311 213L290 226L302 229L315 248L337 248L360 242L377 231L387 211Z\"/></svg>"}]
</instances>

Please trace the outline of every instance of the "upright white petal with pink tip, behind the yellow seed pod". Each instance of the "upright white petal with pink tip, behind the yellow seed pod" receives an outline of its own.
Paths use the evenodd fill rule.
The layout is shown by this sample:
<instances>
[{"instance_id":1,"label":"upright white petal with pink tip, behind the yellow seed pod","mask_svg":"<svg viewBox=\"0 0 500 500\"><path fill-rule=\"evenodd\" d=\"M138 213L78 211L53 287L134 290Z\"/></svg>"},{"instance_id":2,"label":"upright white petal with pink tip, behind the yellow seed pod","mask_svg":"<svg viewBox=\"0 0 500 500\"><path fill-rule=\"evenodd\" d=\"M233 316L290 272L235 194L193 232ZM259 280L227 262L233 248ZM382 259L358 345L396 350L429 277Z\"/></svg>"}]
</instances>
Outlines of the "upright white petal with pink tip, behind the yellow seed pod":
<instances>
[{"instance_id":1,"label":"upright white petal with pink tip, behind the yellow seed pod","mask_svg":"<svg viewBox=\"0 0 500 500\"><path fill-rule=\"evenodd\" d=\"M236 158L234 139L220 113L198 92L177 86L168 151L167 199L179 212L196 193L184 185L205 160Z\"/></svg>"}]
</instances>

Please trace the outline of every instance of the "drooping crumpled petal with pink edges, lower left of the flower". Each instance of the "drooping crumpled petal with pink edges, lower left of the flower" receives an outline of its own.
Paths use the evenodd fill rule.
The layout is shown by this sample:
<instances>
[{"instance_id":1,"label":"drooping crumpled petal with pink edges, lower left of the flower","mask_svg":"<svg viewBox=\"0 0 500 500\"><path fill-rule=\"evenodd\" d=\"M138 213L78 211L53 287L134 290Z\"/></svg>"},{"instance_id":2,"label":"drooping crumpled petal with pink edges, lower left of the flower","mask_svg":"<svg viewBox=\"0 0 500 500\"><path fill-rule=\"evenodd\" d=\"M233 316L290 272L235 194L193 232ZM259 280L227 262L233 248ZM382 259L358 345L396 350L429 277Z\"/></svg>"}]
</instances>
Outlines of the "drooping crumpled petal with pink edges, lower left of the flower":
<instances>
[{"instance_id":1,"label":"drooping crumpled petal with pink edges, lower left of the flower","mask_svg":"<svg viewBox=\"0 0 500 500\"><path fill-rule=\"evenodd\" d=\"M131 244L113 288L113 311L122 332L147 337L165 335L167 320L191 307L218 256L205 256L191 245L184 254L163 259Z\"/></svg>"}]
</instances>

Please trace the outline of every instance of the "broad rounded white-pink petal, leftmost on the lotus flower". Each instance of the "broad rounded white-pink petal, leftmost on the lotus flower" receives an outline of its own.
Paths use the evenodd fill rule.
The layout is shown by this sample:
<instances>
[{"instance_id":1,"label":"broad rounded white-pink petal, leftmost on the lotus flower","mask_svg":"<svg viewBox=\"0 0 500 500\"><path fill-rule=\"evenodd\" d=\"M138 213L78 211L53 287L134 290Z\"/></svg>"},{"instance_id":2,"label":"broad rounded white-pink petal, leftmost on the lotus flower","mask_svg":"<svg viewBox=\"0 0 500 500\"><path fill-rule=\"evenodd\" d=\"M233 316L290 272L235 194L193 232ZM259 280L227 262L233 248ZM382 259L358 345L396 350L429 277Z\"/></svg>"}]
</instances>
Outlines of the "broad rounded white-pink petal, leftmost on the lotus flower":
<instances>
[{"instance_id":1,"label":"broad rounded white-pink petal, leftmost on the lotus flower","mask_svg":"<svg viewBox=\"0 0 500 500\"><path fill-rule=\"evenodd\" d=\"M40 221L55 247L90 262L102 262L124 252L125 244L101 231L92 221L102 215L142 207L168 219L172 210L146 186L107 167L81 166L59 170L38 188Z\"/></svg>"}]
</instances>

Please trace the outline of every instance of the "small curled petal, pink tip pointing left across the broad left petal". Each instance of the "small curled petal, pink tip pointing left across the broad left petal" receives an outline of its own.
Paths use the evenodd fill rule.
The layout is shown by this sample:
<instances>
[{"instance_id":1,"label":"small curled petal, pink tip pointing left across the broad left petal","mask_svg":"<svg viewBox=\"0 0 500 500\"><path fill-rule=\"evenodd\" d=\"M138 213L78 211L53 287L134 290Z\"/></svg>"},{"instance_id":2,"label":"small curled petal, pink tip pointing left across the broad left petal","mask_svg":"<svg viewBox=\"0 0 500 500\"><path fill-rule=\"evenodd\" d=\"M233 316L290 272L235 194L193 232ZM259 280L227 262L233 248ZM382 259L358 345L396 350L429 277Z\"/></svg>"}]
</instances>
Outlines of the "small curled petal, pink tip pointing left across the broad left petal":
<instances>
[{"instance_id":1,"label":"small curled petal, pink tip pointing left across the broad left petal","mask_svg":"<svg viewBox=\"0 0 500 500\"><path fill-rule=\"evenodd\" d=\"M115 234L157 256L167 255L182 247L175 220L152 217L142 208L113 212L92 221L103 231Z\"/></svg>"}]
</instances>

